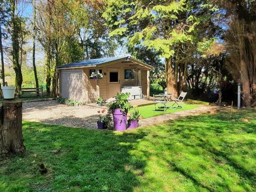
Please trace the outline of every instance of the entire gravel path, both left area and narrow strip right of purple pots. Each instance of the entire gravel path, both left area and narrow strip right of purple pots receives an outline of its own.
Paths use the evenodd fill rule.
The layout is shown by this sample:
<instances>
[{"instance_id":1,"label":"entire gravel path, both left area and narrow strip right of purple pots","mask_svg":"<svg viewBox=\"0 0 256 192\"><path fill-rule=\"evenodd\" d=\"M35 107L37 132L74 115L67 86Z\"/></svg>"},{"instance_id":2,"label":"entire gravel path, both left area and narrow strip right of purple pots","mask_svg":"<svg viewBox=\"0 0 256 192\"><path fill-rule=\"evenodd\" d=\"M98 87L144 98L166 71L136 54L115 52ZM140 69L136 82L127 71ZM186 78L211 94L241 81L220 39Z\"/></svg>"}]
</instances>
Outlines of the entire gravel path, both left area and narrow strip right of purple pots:
<instances>
[{"instance_id":1,"label":"entire gravel path, both left area and narrow strip right of purple pots","mask_svg":"<svg viewBox=\"0 0 256 192\"><path fill-rule=\"evenodd\" d=\"M217 109L217 106L201 105L199 108L176 113L159 115L156 117L141 119L139 126L161 123L190 115L199 115ZM97 129L99 109L91 109L89 106L68 106L57 101L38 101L23 103L23 119L46 124L65 125Z\"/></svg>"}]
</instances>

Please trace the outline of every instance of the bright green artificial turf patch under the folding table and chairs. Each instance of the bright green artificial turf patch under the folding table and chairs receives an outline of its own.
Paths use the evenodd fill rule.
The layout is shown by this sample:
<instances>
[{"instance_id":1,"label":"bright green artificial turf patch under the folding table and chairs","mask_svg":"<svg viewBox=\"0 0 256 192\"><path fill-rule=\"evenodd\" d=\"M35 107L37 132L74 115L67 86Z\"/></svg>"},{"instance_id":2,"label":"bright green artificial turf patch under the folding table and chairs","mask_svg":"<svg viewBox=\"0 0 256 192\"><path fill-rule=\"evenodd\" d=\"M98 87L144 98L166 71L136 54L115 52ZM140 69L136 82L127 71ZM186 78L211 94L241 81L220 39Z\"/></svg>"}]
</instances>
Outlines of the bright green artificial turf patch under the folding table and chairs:
<instances>
[{"instance_id":1,"label":"bright green artificial turf patch under the folding table and chairs","mask_svg":"<svg viewBox=\"0 0 256 192\"><path fill-rule=\"evenodd\" d=\"M173 102L171 103L168 103L168 105L172 105ZM157 111L154 111L155 109L155 106L154 104L152 105L146 105L146 106L139 106L137 109L139 110L141 116L143 118L148 118L148 117L155 117L155 116L158 116L158 115L163 115L163 114L166 114L166 113L175 113L175 112L179 112L179 111L186 111L186 110L191 110L191 109L196 109L198 108L199 105L196 105L196 104L186 104L186 103L181 103L181 105L183 106L183 108L181 109L167 109L165 112L163 112L163 109L160 109ZM157 107L158 106L161 106L161 104L157 104L156 105ZM177 106L177 105L175 105ZM129 111L130 113L132 112L132 110Z\"/></svg>"}]
</instances>

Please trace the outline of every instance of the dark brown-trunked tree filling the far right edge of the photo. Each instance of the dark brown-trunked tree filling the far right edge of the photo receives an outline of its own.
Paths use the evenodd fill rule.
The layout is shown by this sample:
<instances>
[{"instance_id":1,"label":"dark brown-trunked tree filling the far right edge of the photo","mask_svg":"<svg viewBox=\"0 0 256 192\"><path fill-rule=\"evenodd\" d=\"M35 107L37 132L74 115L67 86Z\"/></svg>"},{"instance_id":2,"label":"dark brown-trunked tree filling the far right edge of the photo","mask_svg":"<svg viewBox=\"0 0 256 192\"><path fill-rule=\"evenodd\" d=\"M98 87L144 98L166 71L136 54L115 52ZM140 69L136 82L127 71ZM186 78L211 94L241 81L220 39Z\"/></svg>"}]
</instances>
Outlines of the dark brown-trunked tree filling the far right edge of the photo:
<instances>
[{"instance_id":1,"label":"dark brown-trunked tree filling the far right edge of the photo","mask_svg":"<svg viewBox=\"0 0 256 192\"><path fill-rule=\"evenodd\" d=\"M256 100L256 1L212 0L222 10L224 48L227 51L227 68L237 82L242 84L243 105L251 106ZM207 51L216 54L213 43ZM217 49L218 50L218 49ZM223 49L220 49L222 51ZM255 105L255 103L254 103Z\"/></svg>"}]
</instances>

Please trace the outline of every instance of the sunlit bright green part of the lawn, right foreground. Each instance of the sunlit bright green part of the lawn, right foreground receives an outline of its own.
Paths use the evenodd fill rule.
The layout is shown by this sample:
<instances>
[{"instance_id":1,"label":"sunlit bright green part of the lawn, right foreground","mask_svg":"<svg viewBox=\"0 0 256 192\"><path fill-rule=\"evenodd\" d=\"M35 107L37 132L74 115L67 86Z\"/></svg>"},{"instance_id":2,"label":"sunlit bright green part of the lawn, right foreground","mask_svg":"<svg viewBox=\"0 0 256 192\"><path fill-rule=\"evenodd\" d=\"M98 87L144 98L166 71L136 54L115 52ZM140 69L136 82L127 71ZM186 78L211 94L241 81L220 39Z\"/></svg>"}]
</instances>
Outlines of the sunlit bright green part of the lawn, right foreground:
<instances>
[{"instance_id":1,"label":"sunlit bright green part of the lawn, right foreground","mask_svg":"<svg viewBox=\"0 0 256 192\"><path fill-rule=\"evenodd\" d=\"M256 181L255 129L252 132L255 115L246 111L239 114L231 118L229 113L185 117L174 123L156 125L154 131L143 138L146 147L140 147L143 148L140 156L146 157L147 170L154 159L152 168L162 169L165 179L151 178L144 180L143 185L158 182L164 188L168 174L175 178L169 182L177 182L173 187L176 189L190 185L190 190L251 191ZM252 121L243 123L241 119L245 117ZM153 146L158 148L157 152Z\"/></svg>"}]
</instances>

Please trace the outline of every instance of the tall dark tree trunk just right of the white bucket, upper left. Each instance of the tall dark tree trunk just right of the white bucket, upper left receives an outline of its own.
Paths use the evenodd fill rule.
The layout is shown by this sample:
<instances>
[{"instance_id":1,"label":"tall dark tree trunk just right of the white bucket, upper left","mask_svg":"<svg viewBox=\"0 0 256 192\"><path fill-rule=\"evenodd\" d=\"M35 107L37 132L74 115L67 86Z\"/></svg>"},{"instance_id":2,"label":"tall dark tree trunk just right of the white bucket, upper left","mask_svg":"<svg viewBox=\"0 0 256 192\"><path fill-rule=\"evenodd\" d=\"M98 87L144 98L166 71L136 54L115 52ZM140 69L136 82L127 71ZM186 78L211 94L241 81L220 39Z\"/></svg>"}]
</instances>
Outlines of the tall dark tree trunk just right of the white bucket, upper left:
<instances>
[{"instance_id":1,"label":"tall dark tree trunk just right of the white bucket, upper left","mask_svg":"<svg viewBox=\"0 0 256 192\"><path fill-rule=\"evenodd\" d=\"M17 94L19 95L19 92L22 88L22 69L19 65L19 41L18 41L18 34L20 32L19 26L18 26L18 19L15 15L16 10L16 4L15 0L11 1L11 23L12 23L12 60L13 60L13 69L15 71L15 84L17 89Z\"/></svg>"}]
</instances>

